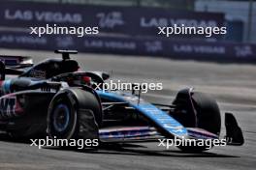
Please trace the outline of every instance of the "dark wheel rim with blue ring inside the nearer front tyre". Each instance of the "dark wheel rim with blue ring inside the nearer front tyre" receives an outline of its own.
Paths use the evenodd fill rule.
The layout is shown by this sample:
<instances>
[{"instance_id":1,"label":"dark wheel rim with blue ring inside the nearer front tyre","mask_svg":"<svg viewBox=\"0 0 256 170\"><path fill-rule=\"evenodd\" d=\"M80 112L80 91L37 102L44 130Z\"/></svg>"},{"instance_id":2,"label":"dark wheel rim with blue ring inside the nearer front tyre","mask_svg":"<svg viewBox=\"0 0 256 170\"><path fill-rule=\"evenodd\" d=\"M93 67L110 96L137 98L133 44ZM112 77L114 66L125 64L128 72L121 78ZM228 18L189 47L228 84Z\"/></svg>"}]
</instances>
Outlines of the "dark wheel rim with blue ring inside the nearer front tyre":
<instances>
[{"instance_id":1,"label":"dark wheel rim with blue ring inside the nearer front tyre","mask_svg":"<svg viewBox=\"0 0 256 170\"><path fill-rule=\"evenodd\" d=\"M58 132L64 131L69 126L70 110L66 104L59 104L53 112L53 127Z\"/></svg>"}]
</instances>

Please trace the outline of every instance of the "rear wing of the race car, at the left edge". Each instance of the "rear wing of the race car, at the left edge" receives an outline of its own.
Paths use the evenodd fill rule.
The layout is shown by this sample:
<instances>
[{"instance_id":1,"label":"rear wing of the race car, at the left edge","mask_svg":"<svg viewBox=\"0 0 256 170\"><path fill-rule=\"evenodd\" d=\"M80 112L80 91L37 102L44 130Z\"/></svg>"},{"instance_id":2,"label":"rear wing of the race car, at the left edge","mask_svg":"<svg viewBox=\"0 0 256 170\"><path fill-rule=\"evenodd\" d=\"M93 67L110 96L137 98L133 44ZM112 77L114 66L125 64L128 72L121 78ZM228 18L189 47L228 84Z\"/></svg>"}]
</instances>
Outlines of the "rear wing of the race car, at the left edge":
<instances>
[{"instance_id":1,"label":"rear wing of the race car, at the left edge","mask_svg":"<svg viewBox=\"0 0 256 170\"><path fill-rule=\"evenodd\" d=\"M0 61L6 68L22 69L33 66L31 57L0 55Z\"/></svg>"}]
</instances>

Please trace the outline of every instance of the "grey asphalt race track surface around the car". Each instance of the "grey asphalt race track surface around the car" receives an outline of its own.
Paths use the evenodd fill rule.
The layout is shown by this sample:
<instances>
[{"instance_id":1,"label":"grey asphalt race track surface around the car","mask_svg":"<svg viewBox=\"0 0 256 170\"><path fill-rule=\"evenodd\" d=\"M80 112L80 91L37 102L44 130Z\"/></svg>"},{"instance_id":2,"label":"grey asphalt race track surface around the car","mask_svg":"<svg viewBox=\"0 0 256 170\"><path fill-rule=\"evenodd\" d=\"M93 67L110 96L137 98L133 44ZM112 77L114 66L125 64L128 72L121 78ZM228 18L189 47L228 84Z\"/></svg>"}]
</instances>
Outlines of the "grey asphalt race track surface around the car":
<instances>
[{"instance_id":1,"label":"grey asphalt race track surface around the car","mask_svg":"<svg viewBox=\"0 0 256 170\"><path fill-rule=\"evenodd\" d=\"M0 53L35 56L35 62L46 56L58 56L45 51L7 49L1 49ZM178 89L191 86L208 93L217 99L222 116L225 112L236 115L244 132L245 144L241 147L215 147L203 154L184 154L175 147L166 150L158 147L158 143L116 145L98 151L39 150L28 143L14 142L2 134L1 170L255 169L255 66L98 54L79 54L74 58L84 70L111 71L112 78L163 82L163 91L143 95L144 99L150 101L170 103ZM222 131L225 131L224 128Z\"/></svg>"}]
</instances>

